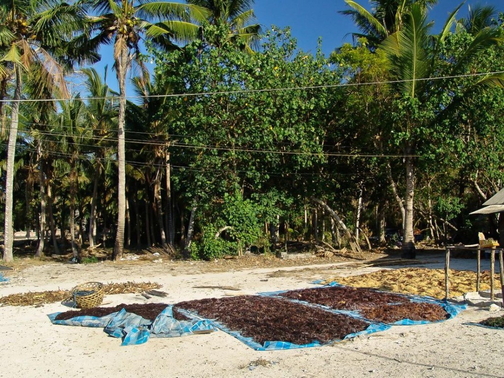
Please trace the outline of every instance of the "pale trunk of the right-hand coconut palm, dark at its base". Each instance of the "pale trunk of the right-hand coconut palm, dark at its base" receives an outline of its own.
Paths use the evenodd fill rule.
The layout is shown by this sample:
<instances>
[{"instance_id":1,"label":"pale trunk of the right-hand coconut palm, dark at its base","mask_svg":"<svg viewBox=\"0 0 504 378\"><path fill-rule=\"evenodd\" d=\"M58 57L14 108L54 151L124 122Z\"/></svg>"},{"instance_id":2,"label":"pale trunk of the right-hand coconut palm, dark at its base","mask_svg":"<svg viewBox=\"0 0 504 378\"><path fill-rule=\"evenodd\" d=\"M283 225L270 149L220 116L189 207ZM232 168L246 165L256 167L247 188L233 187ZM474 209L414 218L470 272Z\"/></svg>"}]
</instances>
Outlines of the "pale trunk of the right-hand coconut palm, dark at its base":
<instances>
[{"instance_id":1,"label":"pale trunk of the right-hand coconut palm, dark at its base","mask_svg":"<svg viewBox=\"0 0 504 378\"><path fill-rule=\"evenodd\" d=\"M404 206L404 230L403 230L403 244L402 254L403 259L414 259L415 253L415 239L413 236L413 198L415 190L415 173L413 158L409 157L410 149L406 149L406 194Z\"/></svg>"}]
</instances>

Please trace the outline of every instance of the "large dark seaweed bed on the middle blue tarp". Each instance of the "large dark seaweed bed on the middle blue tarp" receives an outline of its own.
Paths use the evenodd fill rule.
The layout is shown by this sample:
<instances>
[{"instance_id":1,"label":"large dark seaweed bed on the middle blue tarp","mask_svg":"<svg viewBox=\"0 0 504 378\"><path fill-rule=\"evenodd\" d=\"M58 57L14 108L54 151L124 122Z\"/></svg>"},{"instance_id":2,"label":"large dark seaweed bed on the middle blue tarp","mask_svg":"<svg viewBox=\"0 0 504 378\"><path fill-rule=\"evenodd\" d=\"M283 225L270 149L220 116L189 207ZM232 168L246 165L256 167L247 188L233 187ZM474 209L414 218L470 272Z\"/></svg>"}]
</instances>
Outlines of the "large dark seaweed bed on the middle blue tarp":
<instances>
[{"instance_id":1,"label":"large dark seaweed bed on the middle blue tarp","mask_svg":"<svg viewBox=\"0 0 504 378\"><path fill-rule=\"evenodd\" d=\"M237 296L180 302L175 307L196 311L200 317L215 319L231 331L251 337L261 345L266 341L285 341L304 345L327 343L360 332L368 324L323 309L283 299Z\"/></svg>"}]
</instances>

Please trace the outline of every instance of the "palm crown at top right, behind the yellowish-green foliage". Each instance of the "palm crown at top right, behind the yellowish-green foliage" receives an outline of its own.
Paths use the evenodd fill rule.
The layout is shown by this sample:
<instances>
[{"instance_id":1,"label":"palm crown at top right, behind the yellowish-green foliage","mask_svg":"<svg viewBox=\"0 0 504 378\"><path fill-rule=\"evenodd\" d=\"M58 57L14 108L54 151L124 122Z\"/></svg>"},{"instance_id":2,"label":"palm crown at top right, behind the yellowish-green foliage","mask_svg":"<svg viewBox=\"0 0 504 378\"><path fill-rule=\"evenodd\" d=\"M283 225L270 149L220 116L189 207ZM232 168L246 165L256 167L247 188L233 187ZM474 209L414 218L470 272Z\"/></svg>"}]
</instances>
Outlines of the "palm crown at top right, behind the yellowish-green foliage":
<instances>
[{"instance_id":1,"label":"palm crown at top right, behind the yellowish-green foliage","mask_svg":"<svg viewBox=\"0 0 504 378\"><path fill-rule=\"evenodd\" d=\"M361 33L352 33L354 38L365 38L370 47L376 47L389 35L401 29L408 12L413 5L426 13L427 8L436 5L438 0L371 0L371 11L353 0L345 0L351 8L340 11L350 16Z\"/></svg>"}]
</instances>

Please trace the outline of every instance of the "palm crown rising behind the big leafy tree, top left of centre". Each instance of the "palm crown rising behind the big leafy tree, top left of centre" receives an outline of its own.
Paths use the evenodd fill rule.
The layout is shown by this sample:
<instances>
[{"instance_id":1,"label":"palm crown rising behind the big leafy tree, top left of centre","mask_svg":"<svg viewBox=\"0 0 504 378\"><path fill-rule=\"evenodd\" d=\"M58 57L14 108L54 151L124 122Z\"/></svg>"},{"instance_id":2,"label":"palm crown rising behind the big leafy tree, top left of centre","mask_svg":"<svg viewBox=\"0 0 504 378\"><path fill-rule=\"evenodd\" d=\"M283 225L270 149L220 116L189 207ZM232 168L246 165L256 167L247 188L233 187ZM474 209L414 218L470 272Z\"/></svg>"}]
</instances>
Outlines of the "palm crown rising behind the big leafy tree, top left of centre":
<instances>
[{"instance_id":1,"label":"palm crown rising behind the big leafy tree, top left of centre","mask_svg":"<svg viewBox=\"0 0 504 378\"><path fill-rule=\"evenodd\" d=\"M258 47L261 25L256 20L254 0L187 0L187 3L202 7L208 11L211 25L224 23L229 26L229 34L224 41L210 40L210 44L220 47L222 43L243 43L243 48L253 51Z\"/></svg>"}]
</instances>

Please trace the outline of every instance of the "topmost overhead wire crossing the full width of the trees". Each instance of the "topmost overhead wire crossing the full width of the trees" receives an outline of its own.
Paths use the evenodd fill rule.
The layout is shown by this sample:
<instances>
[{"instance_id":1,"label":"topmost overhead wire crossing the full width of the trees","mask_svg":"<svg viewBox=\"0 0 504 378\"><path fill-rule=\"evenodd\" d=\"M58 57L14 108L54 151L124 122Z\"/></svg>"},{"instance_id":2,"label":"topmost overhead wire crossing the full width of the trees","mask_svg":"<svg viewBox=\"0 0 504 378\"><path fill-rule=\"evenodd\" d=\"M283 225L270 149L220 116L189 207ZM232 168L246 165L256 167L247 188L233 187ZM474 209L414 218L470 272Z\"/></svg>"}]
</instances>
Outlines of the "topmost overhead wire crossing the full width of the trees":
<instances>
[{"instance_id":1,"label":"topmost overhead wire crossing the full width of the trees","mask_svg":"<svg viewBox=\"0 0 504 378\"><path fill-rule=\"evenodd\" d=\"M445 80L445 79L458 79L458 78L469 78L469 77L479 77L486 75L498 75L504 74L504 71L495 72L484 72L477 74L464 74L464 75L451 75L451 76L438 76L433 78L419 78L419 79L408 79L408 80L386 80L386 81L375 81L366 83L343 83L343 84L331 84L331 85L314 85L314 86L304 86L304 87L287 87L287 88L264 88L264 89L243 89L234 91L217 91L217 92L199 92L199 93L173 93L164 95L143 95L143 96L105 96L105 97L82 97L82 98L52 98L52 99L27 99L23 98L20 100L0 100L0 102L49 102L49 101L72 101L72 100L117 100L120 98L124 99L142 99L142 98L166 98L166 97L195 97L195 96L213 96L213 95L225 95L225 94L247 94L247 93L262 93L262 92L282 92L282 91L298 91L298 90L311 90L311 89L326 89L326 88L338 88L338 87L358 87L363 85L378 85L378 84L399 84L399 83L410 83L410 82L420 82L420 81L430 81L430 80Z\"/></svg>"}]
</instances>

